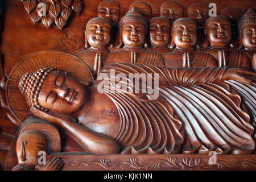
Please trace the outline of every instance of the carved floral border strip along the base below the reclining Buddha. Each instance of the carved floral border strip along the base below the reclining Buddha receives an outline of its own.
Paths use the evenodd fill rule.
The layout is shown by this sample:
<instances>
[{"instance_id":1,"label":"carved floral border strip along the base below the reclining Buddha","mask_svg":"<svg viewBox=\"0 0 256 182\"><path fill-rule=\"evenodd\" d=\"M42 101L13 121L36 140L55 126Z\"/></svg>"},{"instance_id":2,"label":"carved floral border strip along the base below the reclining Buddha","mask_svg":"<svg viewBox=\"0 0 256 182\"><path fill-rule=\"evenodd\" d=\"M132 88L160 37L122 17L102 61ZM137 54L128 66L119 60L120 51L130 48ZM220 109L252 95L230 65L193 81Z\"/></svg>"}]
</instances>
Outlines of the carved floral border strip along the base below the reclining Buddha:
<instances>
[{"instance_id":1,"label":"carved floral border strip along the base below the reclining Buddha","mask_svg":"<svg viewBox=\"0 0 256 182\"><path fill-rule=\"evenodd\" d=\"M150 170L150 169L183 169L183 170L196 170L196 169L234 169L234 168L243 168L243 169L255 169L256 163L249 161L241 161L239 158L230 158L229 162L224 160L218 160L217 164L209 164L208 159L203 161L202 158L177 158L168 157L167 160L159 159L151 161L147 165L139 164L139 159L129 158L128 161L119 161L114 165L111 165L112 162L110 159L100 159L98 161L90 162L69 162L64 164L65 167L68 166L89 166L90 164L98 164L98 166L104 169L138 169L138 170ZM179 162L177 162L179 161Z\"/></svg>"}]
</instances>

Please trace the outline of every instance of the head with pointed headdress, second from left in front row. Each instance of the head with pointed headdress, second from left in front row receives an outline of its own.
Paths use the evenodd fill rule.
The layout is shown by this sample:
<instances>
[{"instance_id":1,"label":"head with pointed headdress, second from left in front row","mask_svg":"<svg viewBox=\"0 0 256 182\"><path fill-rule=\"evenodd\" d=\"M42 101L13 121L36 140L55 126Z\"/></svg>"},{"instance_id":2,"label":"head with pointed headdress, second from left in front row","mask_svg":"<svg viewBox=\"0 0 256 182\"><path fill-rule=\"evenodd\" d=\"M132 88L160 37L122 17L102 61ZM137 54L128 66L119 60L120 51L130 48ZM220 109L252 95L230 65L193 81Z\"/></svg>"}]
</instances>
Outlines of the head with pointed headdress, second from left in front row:
<instances>
[{"instance_id":1,"label":"head with pointed headdress, second from left in front row","mask_svg":"<svg viewBox=\"0 0 256 182\"><path fill-rule=\"evenodd\" d=\"M147 40L147 19L133 7L119 22L120 38L128 47L143 47Z\"/></svg>"}]
</instances>

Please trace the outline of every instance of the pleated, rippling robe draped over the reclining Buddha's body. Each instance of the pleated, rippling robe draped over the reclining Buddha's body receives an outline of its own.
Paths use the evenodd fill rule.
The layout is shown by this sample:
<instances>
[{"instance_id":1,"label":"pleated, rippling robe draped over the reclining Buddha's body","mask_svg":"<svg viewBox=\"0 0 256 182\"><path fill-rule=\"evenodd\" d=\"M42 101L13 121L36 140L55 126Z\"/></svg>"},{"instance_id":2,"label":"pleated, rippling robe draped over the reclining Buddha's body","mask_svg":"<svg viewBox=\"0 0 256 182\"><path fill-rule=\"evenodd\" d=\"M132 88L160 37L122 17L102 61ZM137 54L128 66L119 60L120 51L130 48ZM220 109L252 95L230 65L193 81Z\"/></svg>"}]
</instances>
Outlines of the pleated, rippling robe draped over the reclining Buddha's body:
<instances>
[{"instance_id":1,"label":"pleated, rippling robe draped over the reclining Buddha's body","mask_svg":"<svg viewBox=\"0 0 256 182\"><path fill-rule=\"evenodd\" d=\"M116 86L116 92L109 92L118 83L113 76L110 77L113 69L115 75L126 75L126 78L122 77L123 84L133 84L129 73L151 73L152 85L159 83L151 89L159 90L159 96L152 99L150 92L136 93L132 89L134 84L129 85L133 92L124 92L125 85ZM169 69L141 64L106 65L98 78L104 78L106 84L102 89L114 102L121 118L121 127L114 139L125 148L122 154L253 152L255 143L251 134L254 129L249 123L249 114L240 107L241 97L231 93L229 85L222 81L227 69L230 68ZM103 73L105 76L101 75ZM100 86L100 83L96 80L94 86Z\"/></svg>"}]
</instances>

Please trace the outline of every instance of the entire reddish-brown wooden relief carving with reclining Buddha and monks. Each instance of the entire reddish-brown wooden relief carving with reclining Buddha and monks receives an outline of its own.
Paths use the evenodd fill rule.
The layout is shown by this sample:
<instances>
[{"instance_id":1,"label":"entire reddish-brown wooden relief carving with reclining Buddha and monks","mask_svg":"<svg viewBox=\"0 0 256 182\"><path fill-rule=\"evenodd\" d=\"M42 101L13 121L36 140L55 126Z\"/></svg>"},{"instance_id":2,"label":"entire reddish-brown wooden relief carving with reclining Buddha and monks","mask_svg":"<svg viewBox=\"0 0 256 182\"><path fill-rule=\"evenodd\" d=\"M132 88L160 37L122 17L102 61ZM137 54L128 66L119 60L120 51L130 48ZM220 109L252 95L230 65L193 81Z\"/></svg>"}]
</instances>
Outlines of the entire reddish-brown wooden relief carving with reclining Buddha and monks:
<instances>
[{"instance_id":1,"label":"entire reddish-brown wooden relief carving with reclining Buddha and monks","mask_svg":"<svg viewBox=\"0 0 256 182\"><path fill-rule=\"evenodd\" d=\"M87 1L22 2L34 23L62 29ZM18 127L5 143L0 133L6 169L256 169L256 11L230 3L210 17L208 3L90 2L68 31L48 30L47 48L24 47L10 74L5 32L0 107ZM77 50L63 51L63 35Z\"/></svg>"}]
</instances>

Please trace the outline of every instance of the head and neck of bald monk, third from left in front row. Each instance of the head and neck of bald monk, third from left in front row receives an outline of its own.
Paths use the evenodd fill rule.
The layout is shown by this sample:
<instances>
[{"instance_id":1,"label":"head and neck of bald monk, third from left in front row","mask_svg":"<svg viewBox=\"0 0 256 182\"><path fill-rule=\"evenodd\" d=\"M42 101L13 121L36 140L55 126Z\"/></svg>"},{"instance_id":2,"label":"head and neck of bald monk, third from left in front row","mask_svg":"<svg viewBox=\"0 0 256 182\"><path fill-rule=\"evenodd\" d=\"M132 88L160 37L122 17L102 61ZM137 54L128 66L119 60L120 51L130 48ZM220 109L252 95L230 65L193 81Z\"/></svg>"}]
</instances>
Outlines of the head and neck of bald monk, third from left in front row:
<instances>
[{"instance_id":1,"label":"head and neck of bald monk, third from left in front row","mask_svg":"<svg viewBox=\"0 0 256 182\"><path fill-rule=\"evenodd\" d=\"M171 52L169 48L171 38L171 22L168 18L155 17L150 19L150 49L160 53Z\"/></svg>"}]
</instances>

